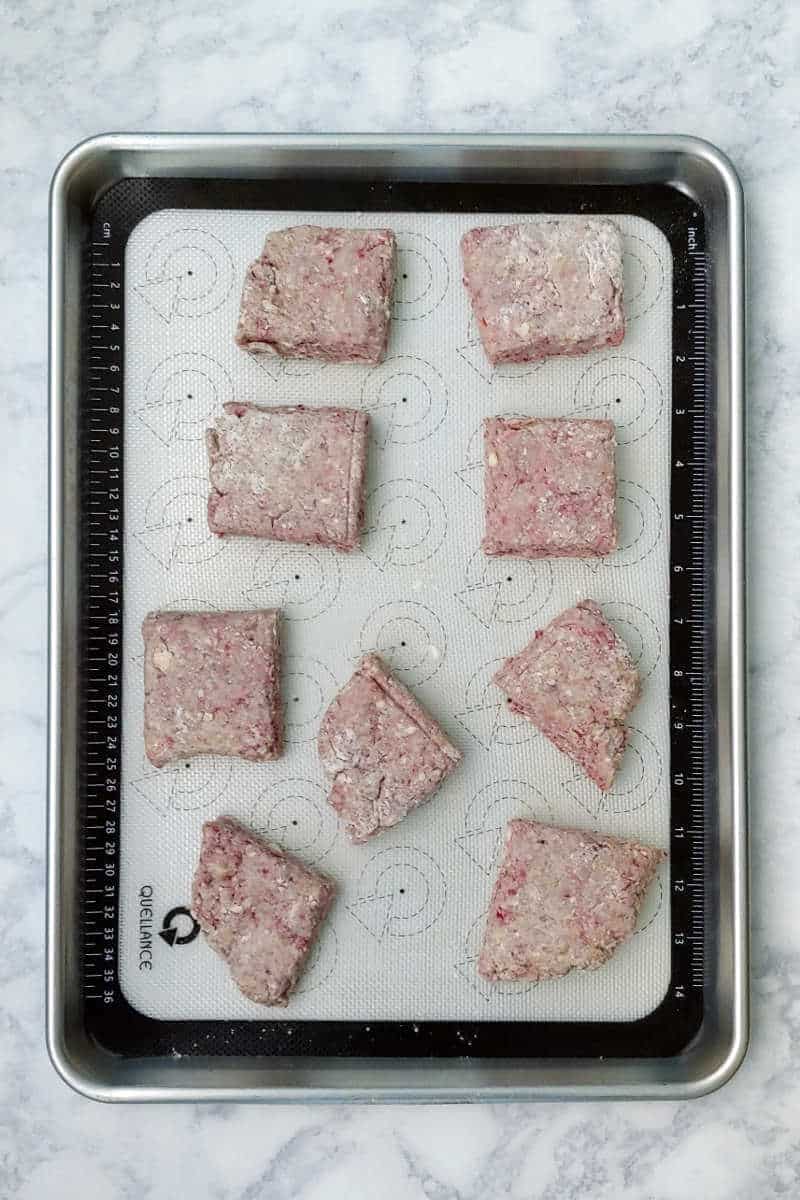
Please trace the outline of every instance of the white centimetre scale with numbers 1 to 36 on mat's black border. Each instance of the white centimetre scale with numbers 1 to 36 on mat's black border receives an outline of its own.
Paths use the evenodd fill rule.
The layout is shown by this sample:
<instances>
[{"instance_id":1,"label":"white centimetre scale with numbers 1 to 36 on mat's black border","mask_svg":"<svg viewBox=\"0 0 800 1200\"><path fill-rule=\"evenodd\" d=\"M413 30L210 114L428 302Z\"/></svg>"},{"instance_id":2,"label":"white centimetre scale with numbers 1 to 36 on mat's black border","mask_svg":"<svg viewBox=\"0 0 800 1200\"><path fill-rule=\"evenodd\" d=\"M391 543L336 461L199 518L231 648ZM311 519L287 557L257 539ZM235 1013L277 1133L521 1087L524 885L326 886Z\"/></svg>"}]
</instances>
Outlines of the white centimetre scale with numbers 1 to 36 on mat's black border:
<instances>
[{"instance_id":1,"label":"white centimetre scale with numbers 1 to 36 on mat's black border","mask_svg":"<svg viewBox=\"0 0 800 1200\"><path fill-rule=\"evenodd\" d=\"M82 984L86 1004L108 1007L119 996L124 367L122 259L109 222L96 230L88 251L86 334L95 344L80 406Z\"/></svg>"}]
</instances>

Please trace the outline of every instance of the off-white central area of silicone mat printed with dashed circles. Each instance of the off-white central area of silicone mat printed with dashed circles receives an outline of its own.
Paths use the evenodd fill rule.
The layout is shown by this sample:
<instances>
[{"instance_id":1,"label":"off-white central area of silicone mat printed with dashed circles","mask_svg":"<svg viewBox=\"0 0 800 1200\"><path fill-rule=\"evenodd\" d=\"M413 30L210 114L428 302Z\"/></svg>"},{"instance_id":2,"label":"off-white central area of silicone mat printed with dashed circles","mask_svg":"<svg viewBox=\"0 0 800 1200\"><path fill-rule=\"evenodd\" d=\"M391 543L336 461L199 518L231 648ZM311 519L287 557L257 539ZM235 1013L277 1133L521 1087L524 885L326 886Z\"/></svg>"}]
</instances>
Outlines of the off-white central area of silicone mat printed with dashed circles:
<instances>
[{"instance_id":1,"label":"off-white central area of silicone mat printed with dashed circles","mask_svg":"<svg viewBox=\"0 0 800 1200\"><path fill-rule=\"evenodd\" d=\"M614 350L492 372L461 284L458 239L506 216L163 211L126 256L125 707L120 979L162 1019L633 1020L669 978L667 869L639 932L597 972L489 986L475 971L503 824L512 815L667 847L670 253L616 217L628 331ZM241 280L269 229L391 226L401 247L389 356L378 367L284 362L233 344ZM204 430L227 400L342 403L373 421L368 533L355 556L212 538ZM489 562L479 550L481 419L602 415L618 426L622 546L606 562ZM639 659L644 696L614 791L581 779L504 712L495 662L576 600L603 605ZM287 752L156 772L142 739L144 614L278 605ZM371 845L345 844L317 761L325 706L377 648L464 751L431 804ZM339 898L285 1010L245 1000L194 938L148 929L186 905L204 820L229 812L318 865ZM180 932L185 918L175 918ZM150 967L143 944L151 941Z\"/></svg>"}]
</instances>

